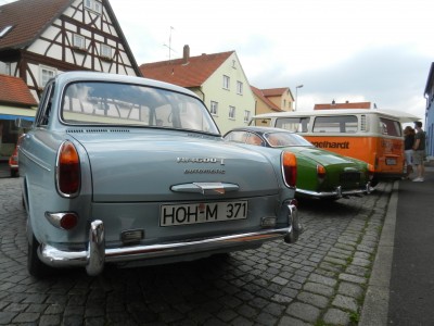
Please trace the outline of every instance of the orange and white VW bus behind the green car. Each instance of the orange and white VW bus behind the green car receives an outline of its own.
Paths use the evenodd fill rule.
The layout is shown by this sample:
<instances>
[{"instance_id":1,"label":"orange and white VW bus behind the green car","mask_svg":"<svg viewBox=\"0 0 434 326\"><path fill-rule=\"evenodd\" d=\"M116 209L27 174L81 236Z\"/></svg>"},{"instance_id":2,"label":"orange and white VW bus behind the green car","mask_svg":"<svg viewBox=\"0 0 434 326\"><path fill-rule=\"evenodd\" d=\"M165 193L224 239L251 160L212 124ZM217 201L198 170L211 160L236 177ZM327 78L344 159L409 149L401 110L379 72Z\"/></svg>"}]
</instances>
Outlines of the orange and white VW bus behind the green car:
<instances>
[{"instance_id":1,"label":"orange and white VW bus behind the green car","mask_svg":"<svg viewBox=\"0 0 434 326\"><path fill-rule=\"evenodd\" d=\"M401 123L417 120L392 110L339 109L258 114L250 125L288 129L318 148L370 163L375 185L381 179L404 176Z\"/></svg>"}]
</instances>

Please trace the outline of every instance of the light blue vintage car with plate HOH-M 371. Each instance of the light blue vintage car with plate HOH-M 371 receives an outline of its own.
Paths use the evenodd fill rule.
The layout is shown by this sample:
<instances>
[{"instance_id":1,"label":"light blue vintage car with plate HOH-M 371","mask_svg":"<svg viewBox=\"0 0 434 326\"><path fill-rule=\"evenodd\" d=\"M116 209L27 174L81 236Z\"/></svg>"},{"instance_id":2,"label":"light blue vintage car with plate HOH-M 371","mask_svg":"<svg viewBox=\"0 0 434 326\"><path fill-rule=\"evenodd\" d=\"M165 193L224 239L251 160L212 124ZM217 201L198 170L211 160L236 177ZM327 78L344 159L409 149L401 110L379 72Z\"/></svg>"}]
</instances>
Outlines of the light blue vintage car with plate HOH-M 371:
<instances>
[{"instance_id":1,"label":"light blue vintage car with plate HOH-M 371","mask_svg":"<svg viewBox=\"0 0 434 326\"><path fill-rule=\"evenodd\" d=\"M204 103L174 85L63 73L18 156L34 276L294 242L302 228L295 156L225 142Z\"/></svg>"}]
</instances>

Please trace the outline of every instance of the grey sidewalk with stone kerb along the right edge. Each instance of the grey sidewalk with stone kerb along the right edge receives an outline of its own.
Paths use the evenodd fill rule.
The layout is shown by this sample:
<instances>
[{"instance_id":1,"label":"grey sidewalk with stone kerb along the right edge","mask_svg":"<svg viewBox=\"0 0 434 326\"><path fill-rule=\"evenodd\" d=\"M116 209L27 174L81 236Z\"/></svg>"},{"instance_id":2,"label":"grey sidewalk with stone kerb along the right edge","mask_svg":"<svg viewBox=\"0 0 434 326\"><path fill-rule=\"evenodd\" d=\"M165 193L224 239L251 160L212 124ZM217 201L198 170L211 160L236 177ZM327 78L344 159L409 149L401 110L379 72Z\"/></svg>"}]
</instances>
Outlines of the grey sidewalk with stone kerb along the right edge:
<instances>
[{"instance_id":1,"label":"grey sidewalk with stone kerb along the right edge","mask_svg":"<svg viewBox=\"0 0 434 326\"><path fill-rule=\"evenodd\" d=\"M395 181L359 325L434 325L434 165Z\"/></svg>"}]
</instances>

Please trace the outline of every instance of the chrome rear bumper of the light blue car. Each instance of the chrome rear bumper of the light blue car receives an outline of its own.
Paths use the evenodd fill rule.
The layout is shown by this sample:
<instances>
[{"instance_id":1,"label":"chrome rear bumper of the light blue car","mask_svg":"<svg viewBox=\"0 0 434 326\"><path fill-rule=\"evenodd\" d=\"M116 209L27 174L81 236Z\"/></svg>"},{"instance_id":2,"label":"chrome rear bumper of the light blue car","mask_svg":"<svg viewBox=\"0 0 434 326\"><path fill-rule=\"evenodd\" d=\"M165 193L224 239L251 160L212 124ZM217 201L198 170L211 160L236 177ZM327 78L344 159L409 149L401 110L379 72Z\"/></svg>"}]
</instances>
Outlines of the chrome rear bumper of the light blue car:
<instances>
[{"instance_id":1,"label":"chrome rear bumper of the light blue car","mask_svg":"<svg viewBox=\"0 0 434 326\"><path fill-rule=\"evenodd\" d=\"M38 250L39 259L52 267L84 266L89 275L98 275L104 268L104 263L132 262L164 256L176 256L188 253L227 251L243 247L260 246L265 241L284 239L295 242L302 231L297 209L293 204L289 209L289 227L264 229L255 233L230 236L209 237L200 240L188 240L175 243L139 244L120 248L105 248L104 224L97 220L90 224L87 250L65 251L42 243Z\"/></svg>"}]
</instances>

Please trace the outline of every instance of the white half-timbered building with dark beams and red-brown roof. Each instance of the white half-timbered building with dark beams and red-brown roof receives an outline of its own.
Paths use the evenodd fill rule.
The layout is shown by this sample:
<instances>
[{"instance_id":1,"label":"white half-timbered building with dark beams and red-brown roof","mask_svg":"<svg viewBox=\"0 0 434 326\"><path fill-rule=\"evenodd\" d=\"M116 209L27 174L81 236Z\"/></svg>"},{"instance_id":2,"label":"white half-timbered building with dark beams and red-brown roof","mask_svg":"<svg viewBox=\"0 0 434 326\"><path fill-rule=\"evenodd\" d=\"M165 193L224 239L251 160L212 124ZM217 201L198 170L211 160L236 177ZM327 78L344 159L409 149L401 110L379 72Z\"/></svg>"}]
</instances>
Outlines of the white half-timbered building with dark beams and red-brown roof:
<instances>
[{"instance_id":1,"label":"white half-timbered building with dark beams and red-brown roof","mask_svg":"<svg viewBox=\"0 0 434 326\"><path fill-rule=\"evenodd\" d=\"M0 7L0 73L39 98L61 72L140 76L108 0L17 0Z\"/></svg>"}]
</instances>

